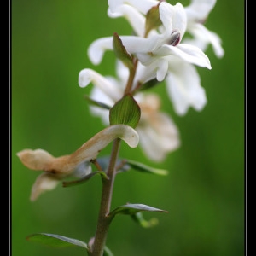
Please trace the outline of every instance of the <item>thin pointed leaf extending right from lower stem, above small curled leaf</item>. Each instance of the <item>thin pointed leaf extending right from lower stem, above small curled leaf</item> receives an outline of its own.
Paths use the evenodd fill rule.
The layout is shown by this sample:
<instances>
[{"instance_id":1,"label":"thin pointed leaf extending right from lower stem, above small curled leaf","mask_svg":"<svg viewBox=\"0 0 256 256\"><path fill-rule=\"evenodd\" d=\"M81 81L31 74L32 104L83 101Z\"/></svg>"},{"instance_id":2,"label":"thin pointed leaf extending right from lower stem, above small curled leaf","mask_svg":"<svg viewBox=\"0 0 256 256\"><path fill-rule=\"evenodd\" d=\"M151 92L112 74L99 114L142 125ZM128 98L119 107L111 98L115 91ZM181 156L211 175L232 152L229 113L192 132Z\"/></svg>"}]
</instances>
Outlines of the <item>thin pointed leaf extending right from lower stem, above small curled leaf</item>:
<instances>
[{"instance_id":1,"label":"thin pointed leaf extending right from lower stem, above small curled leaf","mask_svg":"<svg viewBox=\"0 0 256 256\"><path fill-rule=\"evenodd\" d=\"M148 207L143 204L126 204L124 206L117 207L112 212L109 212L108 217L113 218L117 214L132 215L132 214L136 214L137 212L142 212L142 211L167 212L165 210L161 210L161 209L154 208L154 207Z\"/></svg>"}]
</instances>

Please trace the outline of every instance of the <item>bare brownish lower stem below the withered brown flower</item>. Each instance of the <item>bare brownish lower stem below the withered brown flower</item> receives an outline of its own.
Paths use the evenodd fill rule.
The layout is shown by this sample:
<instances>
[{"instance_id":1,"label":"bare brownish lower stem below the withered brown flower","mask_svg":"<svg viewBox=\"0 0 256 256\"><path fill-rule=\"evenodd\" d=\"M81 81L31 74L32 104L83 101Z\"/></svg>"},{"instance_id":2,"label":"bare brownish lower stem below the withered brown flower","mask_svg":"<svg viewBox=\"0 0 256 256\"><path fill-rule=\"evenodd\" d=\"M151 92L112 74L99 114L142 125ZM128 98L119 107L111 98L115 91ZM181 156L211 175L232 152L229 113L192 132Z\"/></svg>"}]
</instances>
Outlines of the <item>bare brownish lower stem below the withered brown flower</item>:
<instances>
[{"instance_id":1,"label":"bare brownish lower stem below the withered brown flower","mask_svg":"<svg viewBox=\"0 0 256 256\"><path fill-rule=\"evenodd\" d=\"M90 256L102 256L105 243L107 240L108 228L111 223L110 218L108 218L108 213L111 207L112 193L113 193L113 183L116 174L115 166L116 161L119 156L121 140L119 138L113 141L112 153L108 166L108 179L102 177L102 200L101 207L98 216L98 223L96 228L96 236L94 238L93 244L90 248Z\"/></svg>"}]
</instances>

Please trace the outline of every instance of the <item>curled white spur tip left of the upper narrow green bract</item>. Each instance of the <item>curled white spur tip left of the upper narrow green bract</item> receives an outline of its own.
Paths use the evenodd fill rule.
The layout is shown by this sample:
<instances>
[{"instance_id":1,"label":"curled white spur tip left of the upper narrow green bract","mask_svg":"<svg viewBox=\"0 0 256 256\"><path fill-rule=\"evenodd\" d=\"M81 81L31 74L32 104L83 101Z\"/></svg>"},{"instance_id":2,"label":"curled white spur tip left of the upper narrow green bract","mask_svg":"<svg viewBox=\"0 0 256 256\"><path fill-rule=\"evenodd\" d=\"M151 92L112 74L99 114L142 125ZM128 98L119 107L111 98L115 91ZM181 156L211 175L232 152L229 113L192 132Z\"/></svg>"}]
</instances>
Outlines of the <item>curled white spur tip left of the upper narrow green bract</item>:
<instances>
[{"instance_id":1,"label":"curled white spur tip left of the upper narrow green bract","mask_svg":"<svg viewBox=\"0 0 256 256\"><path fill-rule=\"evenodd\" d=\"M94 65L98 65L102 61L102 57L106 50L113 49L113 37L99 38L92 42L88 48L88 56Z\"/></svg>"}]
</instances>

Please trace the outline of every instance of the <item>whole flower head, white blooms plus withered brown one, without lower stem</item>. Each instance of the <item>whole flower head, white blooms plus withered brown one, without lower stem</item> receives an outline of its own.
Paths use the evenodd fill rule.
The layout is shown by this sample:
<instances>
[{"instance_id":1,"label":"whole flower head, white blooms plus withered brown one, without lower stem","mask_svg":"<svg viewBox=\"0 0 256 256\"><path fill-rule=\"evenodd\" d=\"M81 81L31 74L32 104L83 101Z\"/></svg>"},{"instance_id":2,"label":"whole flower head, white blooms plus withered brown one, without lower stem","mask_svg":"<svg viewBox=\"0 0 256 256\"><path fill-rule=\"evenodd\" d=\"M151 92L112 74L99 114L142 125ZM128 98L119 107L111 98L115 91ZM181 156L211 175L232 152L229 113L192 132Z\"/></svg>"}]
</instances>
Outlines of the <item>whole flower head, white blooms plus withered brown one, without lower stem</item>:
<instances>
[{"instance_id":1,"label":"whole flower head, white blooms plus withered brown one, without lower stem","mask_svg":"<svg viewBox=\"0 0 256 256\"><path fill-rule=\"evenodd\" d=\"M216 0L191 0L189 6L183 7L181 3L156 0L108 0L108 16L125 18L133 33L96 39L90 44L88 55L98 65L105 51L113 50L117 55L117 77L104 77L90 68L79 72L80 87L95 85L88 97L93 102L91 113L100 116L108 127L73 154L55 158L43 149L20 151L17 155L25 166L44 171L32 187L32 201L54 189L63 178L90 173L90 162L115 138L125 140L131 148L139 144L148 159L156 162L179 147L177 126L168 113L160 110L160 96L148 90L165 82L178 115L184 115L190 107L197 111L204 108L207 96L196 67L212 68L204 53L210 44L218 57L224 55L218 35L203 25L215 3ZM133 119L130 110L118 108L115 112L124 118L113 116L111 122L109 117L109 110L125 96L131 96L139 108L133 127L125 116L128 112ZM84 162L87 164L81 167Z\"/></svg>"}]
</instances>

